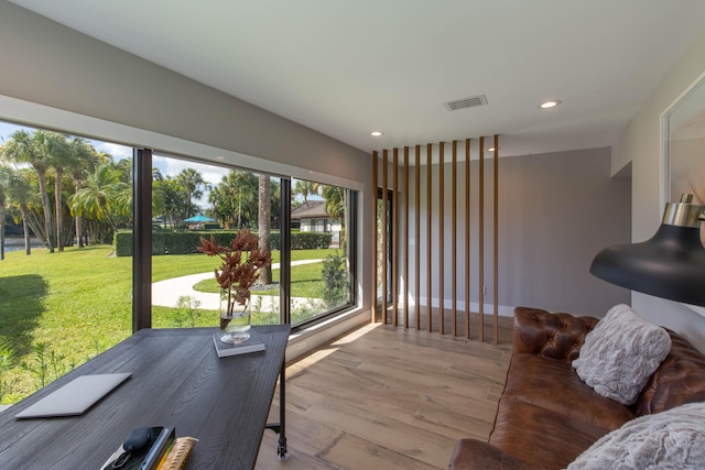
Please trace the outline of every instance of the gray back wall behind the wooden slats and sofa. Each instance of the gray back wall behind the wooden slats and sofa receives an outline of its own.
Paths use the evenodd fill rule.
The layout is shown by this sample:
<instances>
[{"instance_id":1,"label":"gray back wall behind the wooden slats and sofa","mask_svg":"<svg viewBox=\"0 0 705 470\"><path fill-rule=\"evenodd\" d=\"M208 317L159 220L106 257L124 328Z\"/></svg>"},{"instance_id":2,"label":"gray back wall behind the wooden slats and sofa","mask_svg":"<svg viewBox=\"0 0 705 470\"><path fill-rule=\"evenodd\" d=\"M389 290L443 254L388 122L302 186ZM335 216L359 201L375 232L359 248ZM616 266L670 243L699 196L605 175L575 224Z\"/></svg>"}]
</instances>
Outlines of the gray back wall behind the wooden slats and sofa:
<instances>
[{"instance_id":1,"label":"gray back wall behind the wooden slats and sofa","mask_svg":"<svg viewBox=\"0 0 705 470\"><path fill-rule=\"evenodd\" d=\"M423 160L422 160L423 161ZM447 161L447 159L446 159ZM465 305L465 164L458 165L457 240L453 252L452 168L444 173L444 272L438 265L438 165L433 165L432 259L426 266L426 166L422 167L420 203L421 223L421 298L427 305L426 273L433 276L433 305L438 305L438 278L444 276L444 305L452 302L452 261L457 260L458 308ZM511 315L516 306L531 306L601 317L614 305L628 303L629 291L589 274L589 265L599 250L630 240L629 178L610 177L610 150L590 149L542 155L512 156L499 160L499 306L500 314ZM470 164L470 305L479 300L478 284L478 173L479 163ZM492 164L486 162L485 187L485 295L486 311L492 303L491 269ZM413 170L412 170L413 175ZM401 181L401 179L400 179ZM413 182L413 177L411 178ZM410 192L413 205L413 190ZM414 210L411 233L414 230ZM413 253L415 241L410 248ZM415 275L414 256L410 256L409 284ZM403 261L400 262L403 266Z\"/></svg>"}]
</instances>

